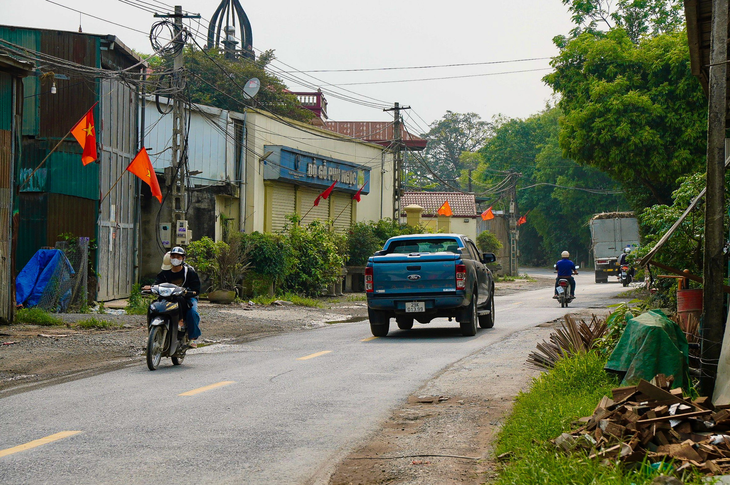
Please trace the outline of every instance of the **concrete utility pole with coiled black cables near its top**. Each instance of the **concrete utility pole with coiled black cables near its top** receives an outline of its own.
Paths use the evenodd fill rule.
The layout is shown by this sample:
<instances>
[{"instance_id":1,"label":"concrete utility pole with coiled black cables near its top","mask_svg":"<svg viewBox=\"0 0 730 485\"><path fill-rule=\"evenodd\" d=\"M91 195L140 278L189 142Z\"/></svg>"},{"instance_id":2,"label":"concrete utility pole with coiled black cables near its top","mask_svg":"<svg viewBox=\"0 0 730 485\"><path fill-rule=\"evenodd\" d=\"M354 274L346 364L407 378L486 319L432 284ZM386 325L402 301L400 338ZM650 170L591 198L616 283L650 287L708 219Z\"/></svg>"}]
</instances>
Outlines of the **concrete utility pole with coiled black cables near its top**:
<instances>
[{"instance_id":1,"label":"concrete utility pole with coiled black cables near its top","mask_svg":"<svg viewBox=\"0 0 730 485\"><path fill-rule=\"evenodd\" d=\"M172 211L172 228L174 230L174 236L170 241L173 246L177 246L177 238L182 234L185 241L187 241L188 228L185 227L181 231L178 225L178 221L185 220L185 212L187 204L185 203L185 160L183 154L183 139L185 137L185 124L183 122L183 100L181 98L183 90L185 89L185 78L183 77L183 68L185 67L185 61L183 59L183 50L185 44L183 43L182 34L183 31L183 18L200 18L200 15L183 15L182 5L175 5L174 14L155 14L157 18L174 18L176 36L175 42L177 43L177 53L172 58L172 68L174 73L172 74L172 84L176 89L174 98L172 99L172 161L170 163L170 176L169 184L171 186L172 197L170 198L170 210ZM175 242L173 242L175 241Z\"/></svg>"}]
</instances>

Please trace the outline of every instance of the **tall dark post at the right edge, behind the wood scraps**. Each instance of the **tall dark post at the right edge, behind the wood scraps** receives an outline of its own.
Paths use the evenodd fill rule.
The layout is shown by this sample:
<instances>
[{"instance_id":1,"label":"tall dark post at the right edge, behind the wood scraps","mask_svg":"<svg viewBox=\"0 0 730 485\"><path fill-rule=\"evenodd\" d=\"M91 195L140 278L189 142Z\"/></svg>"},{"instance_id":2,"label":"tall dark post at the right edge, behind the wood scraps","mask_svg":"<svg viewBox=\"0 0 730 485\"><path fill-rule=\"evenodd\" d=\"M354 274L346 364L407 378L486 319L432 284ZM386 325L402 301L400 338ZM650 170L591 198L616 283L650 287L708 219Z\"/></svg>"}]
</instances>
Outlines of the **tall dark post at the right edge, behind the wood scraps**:
<instances>
[{"instance_id":1,"label":"tall dark post at the right edge, behind the wood scraps","mask_svg":"<svg viewBox=\"0 0 730 485\"><path fill-rule=\"evenodd\" d=\"M723 342L725 119L727 115L728 0L712 1L707 110L707 195L704 206L704 291L700 336L702 395L712 396Z\"/></svg>"}]
</instances>

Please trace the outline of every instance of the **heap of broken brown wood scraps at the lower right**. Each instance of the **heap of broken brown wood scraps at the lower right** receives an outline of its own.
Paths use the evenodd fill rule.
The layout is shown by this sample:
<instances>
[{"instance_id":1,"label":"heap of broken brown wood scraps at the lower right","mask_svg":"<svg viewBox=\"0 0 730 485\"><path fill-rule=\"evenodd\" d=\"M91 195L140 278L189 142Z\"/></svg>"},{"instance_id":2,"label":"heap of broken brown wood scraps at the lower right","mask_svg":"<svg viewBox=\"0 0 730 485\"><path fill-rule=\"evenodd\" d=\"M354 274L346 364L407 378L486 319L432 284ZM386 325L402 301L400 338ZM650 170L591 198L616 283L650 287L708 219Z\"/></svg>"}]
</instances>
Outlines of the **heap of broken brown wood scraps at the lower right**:
<instances>
[{"instance_id":1,"label":"heap of broken brown wood scraps at the lower right","mask_svg":"<svg viewBox=\"0 0 730 485\"><path fill-rule=\"evenodd\" d=\"M658 374L651 382L613 389L592 416L576 422L580 428L553 443L564 451L587 451L591 458L675 461L677 471L730 473L730 409L713 407L707 397L685 398L682 389L671 389L672 381Z\"/></svg>"}]
</instances>

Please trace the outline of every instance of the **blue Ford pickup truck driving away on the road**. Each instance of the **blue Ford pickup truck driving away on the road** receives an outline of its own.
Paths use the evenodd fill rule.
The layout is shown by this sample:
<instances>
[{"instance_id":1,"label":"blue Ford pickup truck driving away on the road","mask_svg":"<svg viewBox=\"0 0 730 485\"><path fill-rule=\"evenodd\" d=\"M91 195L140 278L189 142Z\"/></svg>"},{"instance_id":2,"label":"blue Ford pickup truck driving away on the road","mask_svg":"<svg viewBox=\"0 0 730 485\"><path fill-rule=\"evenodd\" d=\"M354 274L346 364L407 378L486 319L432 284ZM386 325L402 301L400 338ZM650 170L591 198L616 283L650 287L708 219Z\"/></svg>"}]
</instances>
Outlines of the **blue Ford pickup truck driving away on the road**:
<instances>
[{"instance_id":1,"label":"blue Ford pickup truck driving away on the road","mask_svg":"<svg viewBox=\"0 0 730 485\"><path fill-rule=\"evenodd\" d=\"M408 330L413 321L454 318L466 336L494 326L494 280L487 263L463 234L411 234L385 241L365 267L370 330L385 337L391 318Z\"/></svg>"}]
</instances>

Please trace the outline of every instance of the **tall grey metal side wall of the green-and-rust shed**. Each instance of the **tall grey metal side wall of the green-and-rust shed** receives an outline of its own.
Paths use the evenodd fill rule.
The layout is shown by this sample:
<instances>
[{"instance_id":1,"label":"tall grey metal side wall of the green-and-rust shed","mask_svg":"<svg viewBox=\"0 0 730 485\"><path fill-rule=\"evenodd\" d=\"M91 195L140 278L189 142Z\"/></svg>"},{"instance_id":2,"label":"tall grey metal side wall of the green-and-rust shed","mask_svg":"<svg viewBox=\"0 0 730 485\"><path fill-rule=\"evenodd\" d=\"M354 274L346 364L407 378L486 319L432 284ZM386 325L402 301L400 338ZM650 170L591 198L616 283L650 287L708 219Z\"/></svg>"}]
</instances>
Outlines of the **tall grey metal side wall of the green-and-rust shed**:
<instances>
[{"instance_id":1,"label":"tall grey metal side wall of the green-and-rust shed","mask_svg":"<svg viewBox=\"0 0 730 485\"><path fill-rule=\"evenodd\" d=\"M97 272L99 300L129 295L134 266L135 178L126 171L137 154L137 93L118 81L101 82L101 202ZM97 132L99 133L99 132ZM121 176L121 178L120 178ZM119 182L117 182L119 180ZM116 183L116 185L115 185ZM113 188L112 188L113 186Z\"/></svg>"}]
</instances>

